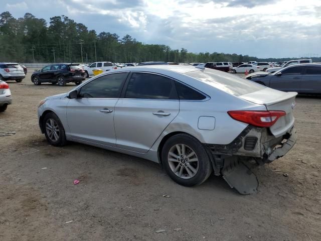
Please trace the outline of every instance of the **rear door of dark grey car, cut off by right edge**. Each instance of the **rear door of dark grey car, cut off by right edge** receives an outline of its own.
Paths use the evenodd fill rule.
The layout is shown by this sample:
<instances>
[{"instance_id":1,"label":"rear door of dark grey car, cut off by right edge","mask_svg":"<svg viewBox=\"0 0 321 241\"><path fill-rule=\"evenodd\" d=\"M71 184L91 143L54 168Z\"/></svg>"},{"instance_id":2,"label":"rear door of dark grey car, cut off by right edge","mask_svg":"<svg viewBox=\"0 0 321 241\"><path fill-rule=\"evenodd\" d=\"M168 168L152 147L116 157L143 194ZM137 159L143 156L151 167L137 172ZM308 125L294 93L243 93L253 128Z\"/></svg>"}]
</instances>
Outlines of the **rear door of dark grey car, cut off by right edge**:
<instances>
[{"instance_id":1,"label":"rear door of dark grey car, cut off by right edge","mask_svg":"<svg viewBox=\"0 0 321 241\"><path fill-rule=\"evenodd\" d=\"M301 93L321 93L321 66L305 66L300 84Z\"/></svg>"}]
</instances>

